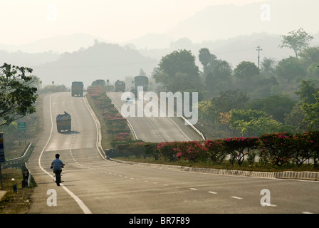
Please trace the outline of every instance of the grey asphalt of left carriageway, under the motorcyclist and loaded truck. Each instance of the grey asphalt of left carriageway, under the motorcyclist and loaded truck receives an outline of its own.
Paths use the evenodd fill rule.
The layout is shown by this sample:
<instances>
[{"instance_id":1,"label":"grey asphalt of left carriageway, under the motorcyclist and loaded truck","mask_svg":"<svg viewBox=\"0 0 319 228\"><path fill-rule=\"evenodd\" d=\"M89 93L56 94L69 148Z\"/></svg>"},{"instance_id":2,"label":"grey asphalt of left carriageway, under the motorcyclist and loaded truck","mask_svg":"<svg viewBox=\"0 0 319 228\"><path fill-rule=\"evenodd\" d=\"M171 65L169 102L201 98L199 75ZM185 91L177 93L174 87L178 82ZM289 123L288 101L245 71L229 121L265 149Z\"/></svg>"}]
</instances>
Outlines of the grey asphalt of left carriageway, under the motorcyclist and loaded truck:
<instances>
[{"instance_id":1,"label":"grey asphalt of left carriageway, under the motorcyclist and loaded truck","mask_svg":"<svg viewBox=\"0 0 319 228\"><path fill-rule=\"evenodd\" d=\"M56 115L64 111L72 115L70 133L56 130ZM157 130L164 137L173 125ZM132 218L155 213L319 213L319 183L315 181L126 165L104 160L96 143L97 125L84 98L70 93L44 97L43 134L27 164L38 185L30 213L132 214ZM66 164L60 187L49 168L56 153Z\"/></svg>"}]
</instances>

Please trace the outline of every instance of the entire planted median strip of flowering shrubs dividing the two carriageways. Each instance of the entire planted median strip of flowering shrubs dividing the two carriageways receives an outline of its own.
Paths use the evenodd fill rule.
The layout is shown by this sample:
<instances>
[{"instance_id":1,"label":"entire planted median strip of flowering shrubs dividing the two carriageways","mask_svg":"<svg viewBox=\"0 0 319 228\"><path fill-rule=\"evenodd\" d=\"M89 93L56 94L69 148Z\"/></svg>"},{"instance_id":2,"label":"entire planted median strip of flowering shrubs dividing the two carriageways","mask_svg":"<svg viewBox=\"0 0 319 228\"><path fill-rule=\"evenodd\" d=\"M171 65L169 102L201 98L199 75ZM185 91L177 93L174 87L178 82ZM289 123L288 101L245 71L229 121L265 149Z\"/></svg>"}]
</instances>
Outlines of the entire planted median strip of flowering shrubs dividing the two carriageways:
<instances>
[{"instance_id":1,"label":"entire planted median strip of flowering shrubs dividing the two carriageways","mask_svg":"<svg viewBox=\"0 0 319 228\"><path fill-rule=\"evenodd\" d=\"M108 140L115 149L110 150L112 158L256 171L319 170L319 131L187 142L142 142L133 140L126 119L102 88L90 87L88 96L95 108L103 113L108 132L108 138L103 138L103 141Z\"/></svg>"}]
</instances>

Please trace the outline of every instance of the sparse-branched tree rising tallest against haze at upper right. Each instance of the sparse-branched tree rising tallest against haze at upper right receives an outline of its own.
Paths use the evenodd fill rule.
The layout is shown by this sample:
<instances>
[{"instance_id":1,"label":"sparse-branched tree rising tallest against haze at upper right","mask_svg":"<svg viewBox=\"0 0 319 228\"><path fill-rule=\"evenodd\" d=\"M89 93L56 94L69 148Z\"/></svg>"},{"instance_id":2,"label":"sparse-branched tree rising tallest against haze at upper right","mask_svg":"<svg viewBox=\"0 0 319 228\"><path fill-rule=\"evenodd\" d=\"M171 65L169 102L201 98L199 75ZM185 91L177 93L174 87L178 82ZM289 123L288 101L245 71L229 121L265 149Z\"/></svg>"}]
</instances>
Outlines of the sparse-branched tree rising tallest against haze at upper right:
<instances>
[{"instance_id":1,"label":"sparse-branched tree rising tallest against haze at upper right","mask_svg":"<svg viewBox=\"0 0 319 228\"><path fill-rule=\"evenodd\" d=\"M291 48L296 54L296 58L307 48L309 42L313 39L313 36L308 35L303 28L299 28L297 31L293 30L288 32L287 36L281 36L281 48Z\"/></svg>"}]
</instances>

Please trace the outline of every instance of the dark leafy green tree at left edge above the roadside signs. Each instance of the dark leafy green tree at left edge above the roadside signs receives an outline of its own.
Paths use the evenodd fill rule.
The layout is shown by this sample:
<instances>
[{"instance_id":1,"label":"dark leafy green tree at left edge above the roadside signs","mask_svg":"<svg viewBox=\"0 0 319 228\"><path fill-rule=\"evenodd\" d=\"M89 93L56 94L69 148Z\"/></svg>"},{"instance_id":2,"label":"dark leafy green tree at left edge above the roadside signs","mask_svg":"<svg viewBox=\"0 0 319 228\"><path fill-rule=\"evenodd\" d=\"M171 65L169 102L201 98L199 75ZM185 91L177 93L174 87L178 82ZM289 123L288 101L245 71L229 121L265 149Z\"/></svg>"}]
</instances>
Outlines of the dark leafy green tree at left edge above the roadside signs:
<instances>
[{"instance_id":1,"label":"dark leafy green tree at left edge above the roadside signs","mask_svg":"<svg viewBox=\"0 0 319 228\"><path fill-rule=\"evenodd\" d=\"M33 78L26 75L32 71L7 63L0 67L0 126L36 111L33 103L38 98L37 88L30 86Z\"/></svg>"}]
</instances>

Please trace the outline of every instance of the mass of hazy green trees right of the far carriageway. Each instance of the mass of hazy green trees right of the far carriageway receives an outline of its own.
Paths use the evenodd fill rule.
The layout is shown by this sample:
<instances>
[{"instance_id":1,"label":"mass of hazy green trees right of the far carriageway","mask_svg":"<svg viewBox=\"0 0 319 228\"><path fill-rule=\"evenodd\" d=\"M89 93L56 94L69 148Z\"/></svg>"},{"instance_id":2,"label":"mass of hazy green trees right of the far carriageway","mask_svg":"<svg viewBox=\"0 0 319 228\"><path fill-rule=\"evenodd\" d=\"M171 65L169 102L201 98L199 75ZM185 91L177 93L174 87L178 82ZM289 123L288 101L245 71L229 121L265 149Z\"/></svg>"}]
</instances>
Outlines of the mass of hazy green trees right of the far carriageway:
<instances>
[{"instance_id":1,"label":"mass of hazy green trees right of the far carriageway","mask_svg":"<svg viewBox=\"0 0 319 228\"><path fill-rule=\"evenodd\" d=\"M281 36L281 48L296 56L275 61L263 58L260 67L241 61L235 68L201 48L198 58L186 49L162 57L153 72L167 90L198 91L198 114L216 138L259 137L264 133L302 133L319 127L319 47L303 28Z\"/></svg>"}]
</instances>

